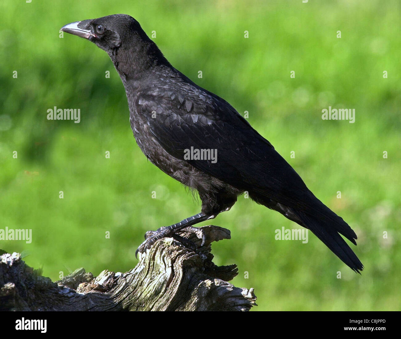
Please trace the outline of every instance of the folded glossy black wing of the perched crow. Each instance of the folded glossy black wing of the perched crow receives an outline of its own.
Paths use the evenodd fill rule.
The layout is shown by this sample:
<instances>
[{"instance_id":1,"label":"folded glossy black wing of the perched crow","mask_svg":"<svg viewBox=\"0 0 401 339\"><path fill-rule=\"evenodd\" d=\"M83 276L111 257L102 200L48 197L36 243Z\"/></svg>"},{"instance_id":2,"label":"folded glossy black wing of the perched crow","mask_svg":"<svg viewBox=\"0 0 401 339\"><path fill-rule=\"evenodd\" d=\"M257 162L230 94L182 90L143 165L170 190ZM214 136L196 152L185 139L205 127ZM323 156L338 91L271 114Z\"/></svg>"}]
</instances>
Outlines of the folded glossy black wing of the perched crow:
<instances>
[{"instance_id":1,"label":"folded glossy black wing of the perched crow","mask_svg":"<svg viewBox=\"0 0 401 339\"><path fill-rule=\"evenodd\" d=\"M312 193L300 176L233 107L193 87L178 93L141 93L136 101L138 113L146 117L148 130L166 152L186 160L184 150L191 146L216 149L215 163L210 159L186 161L239 189L308 209Z\"/></svg>"}]
</instances>

